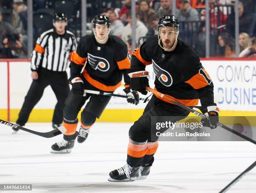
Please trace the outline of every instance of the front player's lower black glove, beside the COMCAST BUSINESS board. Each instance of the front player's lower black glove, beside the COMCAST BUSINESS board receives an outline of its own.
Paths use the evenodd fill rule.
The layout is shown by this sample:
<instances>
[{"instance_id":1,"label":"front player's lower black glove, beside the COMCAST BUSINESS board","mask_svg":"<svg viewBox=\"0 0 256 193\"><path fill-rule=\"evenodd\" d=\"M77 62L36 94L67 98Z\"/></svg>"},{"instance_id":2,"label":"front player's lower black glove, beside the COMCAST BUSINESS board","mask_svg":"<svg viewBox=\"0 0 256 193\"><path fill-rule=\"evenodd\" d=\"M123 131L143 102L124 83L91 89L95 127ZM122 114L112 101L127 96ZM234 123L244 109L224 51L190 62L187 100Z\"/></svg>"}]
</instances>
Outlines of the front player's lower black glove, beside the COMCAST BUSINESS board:
<instances>
[{"instance_id":1,"label":"front player's lower black glove, beside the COMCAST BUSINESS board","mask_svg":"<svg viewBox=\"0 0 256 193\"><path fill-rule=\"evenodd\" d=\"M217 107L217 104L214 103L207 107L201 107L200 110L207 116L201 119L203 126L215 129L219 122L219 108Z\"/></svg>"}]
</instances>

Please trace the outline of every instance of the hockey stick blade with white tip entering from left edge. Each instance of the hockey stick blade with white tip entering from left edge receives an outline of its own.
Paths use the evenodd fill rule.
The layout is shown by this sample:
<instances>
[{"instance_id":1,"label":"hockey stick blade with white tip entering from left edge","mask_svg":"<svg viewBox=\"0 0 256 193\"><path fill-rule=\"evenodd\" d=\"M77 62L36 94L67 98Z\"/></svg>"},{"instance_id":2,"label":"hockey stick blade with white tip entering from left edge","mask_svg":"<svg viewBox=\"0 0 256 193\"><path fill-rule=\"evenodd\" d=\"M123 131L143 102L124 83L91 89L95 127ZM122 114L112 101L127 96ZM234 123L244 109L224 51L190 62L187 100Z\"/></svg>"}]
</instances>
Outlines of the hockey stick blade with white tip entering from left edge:
<instances>
[{"instance_id":1,"label":"hockey stick blade with white tip entering from left edge","mask_svg":"<svg viewBox=\"0 0 256 193\"><path fill-rule=\"evenodd\" d=\"M29 132L29 133L33 133L35 135L39 135L41 137L46 137L46 138L55 137L56 135L60 135L61 133L64 134L67 131L65 127L60 126L60 127L58 127L58 129L43 133L43 132L37 132L37 131L29 130L29 129L26 129L24 127L18 126L16 124L12 124L12 123L9 123L7 121L3 121L1 119L0 119L0 123L5 124L5 125L10 126L10 127L15 127L19 130L23 130L23 131L26 131L26 132Z\"/></svg>"}]
</instances>

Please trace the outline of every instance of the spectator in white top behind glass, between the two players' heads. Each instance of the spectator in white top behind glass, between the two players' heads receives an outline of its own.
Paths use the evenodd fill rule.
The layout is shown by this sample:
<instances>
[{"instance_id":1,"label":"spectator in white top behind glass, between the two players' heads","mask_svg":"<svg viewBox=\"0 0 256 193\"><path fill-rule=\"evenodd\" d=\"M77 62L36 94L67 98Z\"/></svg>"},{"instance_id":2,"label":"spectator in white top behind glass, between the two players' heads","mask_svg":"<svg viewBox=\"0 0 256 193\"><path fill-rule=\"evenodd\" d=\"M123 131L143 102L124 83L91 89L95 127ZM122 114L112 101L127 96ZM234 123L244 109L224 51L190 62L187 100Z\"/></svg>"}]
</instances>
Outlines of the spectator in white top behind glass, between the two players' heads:
<instances>
[{"instance_id":1,"label":"spectator in white top behind glass, between the two players' heads","mask_svg":"<svg viewBox=\"0 0 256 193\"><path fill-rule=\"evenodd\" d=\"M128 24L125 25L121 38L123 39L123 41L128 42L129 39L131 40L131 37L132 37L132 26L131 26L131 24L132 24L132 16L131 16L131 11L129 11L126 14L126 17L127 17ZM144 25L140 21L138 13L136 13L136 44L138 43L139 38L141 38L143 36L146 36L147 33L148 33L148 28L146 27L146 25ZM142 43L142 42L140 42L140 43Z\"/></svg>"}]
</instances>

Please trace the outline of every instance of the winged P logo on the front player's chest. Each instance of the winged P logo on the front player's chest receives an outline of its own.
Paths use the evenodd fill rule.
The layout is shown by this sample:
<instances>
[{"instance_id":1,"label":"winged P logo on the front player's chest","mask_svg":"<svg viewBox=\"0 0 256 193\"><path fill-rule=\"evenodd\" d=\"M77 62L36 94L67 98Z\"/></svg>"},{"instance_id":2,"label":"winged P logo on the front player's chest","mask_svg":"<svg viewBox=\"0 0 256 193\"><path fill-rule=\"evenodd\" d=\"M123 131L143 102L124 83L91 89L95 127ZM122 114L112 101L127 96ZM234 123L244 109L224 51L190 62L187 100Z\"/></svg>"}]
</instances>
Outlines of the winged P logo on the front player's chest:
<instances>
[{"instance_id":1,"label":"winged P logo on the front player's chest","mask_svg":"<svg viewBox=\"0 0 256 193\"><path fill-rule=\"evenodd\" d=\"M172 76L169 72L167 72L164 69L161 69L154 60L152 60L153 64L153 70L154 73L156 74L156 77L158 80L164 84L164 86L171 86L172 85Z\"/></svg>"}]
</instances>

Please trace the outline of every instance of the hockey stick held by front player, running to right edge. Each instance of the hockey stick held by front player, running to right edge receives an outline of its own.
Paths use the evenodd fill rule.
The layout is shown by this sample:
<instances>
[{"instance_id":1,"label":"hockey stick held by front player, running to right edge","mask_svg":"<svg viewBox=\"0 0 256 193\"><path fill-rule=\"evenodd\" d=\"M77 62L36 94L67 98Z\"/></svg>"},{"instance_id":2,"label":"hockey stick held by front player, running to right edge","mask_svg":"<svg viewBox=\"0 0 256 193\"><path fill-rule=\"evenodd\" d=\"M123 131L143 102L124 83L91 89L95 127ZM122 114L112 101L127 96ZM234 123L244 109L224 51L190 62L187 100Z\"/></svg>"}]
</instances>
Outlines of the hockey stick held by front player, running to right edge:
<instances>
[{"instance_id":1,"label":"hockey stick held by front player, running to right edge","mask_svg":"<svg viewBox=\"0 0 256 193\"><path fill-rule=\"evenodd\" d=\"M173 104L178 105L179 107L182 107L183 109L186 109L186 110L189 111L189 112L192 112L192 113L196 114L196 115L199 116L199 117L202 117L202 118L206 117L204 114L202 114L202 113L200 113L200 112L198 112L198 111L196 111L196 110L194 110L194 109L191 109L191 108L187 107L186 105L181 104L181 103L175 101L174 99L171 99L170 97L167 97L165 94L162 94L162 93L159 92L159 91L156 91L156 90L154 90L154 89L151 89L151 88L148 87L148 86L146 86L146 90L147 90L147 91L150 91L150 92L152 92L152 93L154 93L154 94L156 94L157 96L159 96L159 97L161 97L161 98L163 98L163 99L166 99L166 100L169 101L169 102L172 102ZM218 122L217 125L218 125L219 127L222 127L222 128L225 129L225 130L228 130L229 132L231 132L231 133L233 133L233 134L235 134L235 135L238 135L239 137L243 138L244 140L247 140L247 141L249 141L249 142L252 142L253 144L256 145L256 141L254 141L253 139L251 139L251 138L249 138L249 137L247 137L247 136L245 136L245 135L242 135L241 133L239 133L239 132L237 132L237 131L235 131L235 130L230 129L229 127L225 126L224 124L221 124L220 122Z\"/></svg>"}]
</instances>

